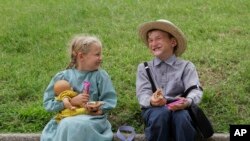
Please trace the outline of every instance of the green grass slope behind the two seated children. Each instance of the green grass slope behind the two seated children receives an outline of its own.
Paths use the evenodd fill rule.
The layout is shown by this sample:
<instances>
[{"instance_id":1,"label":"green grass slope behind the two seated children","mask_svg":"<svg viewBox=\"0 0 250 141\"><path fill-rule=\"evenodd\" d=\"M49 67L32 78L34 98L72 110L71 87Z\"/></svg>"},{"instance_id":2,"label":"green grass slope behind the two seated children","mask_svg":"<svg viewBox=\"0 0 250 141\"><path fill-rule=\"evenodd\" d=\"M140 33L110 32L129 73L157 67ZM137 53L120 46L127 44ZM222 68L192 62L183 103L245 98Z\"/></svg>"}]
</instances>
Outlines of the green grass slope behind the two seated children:
<instances>
[{"instance_id":1,"label":"green grass slope behind the two seated children","mask_svg":"<svg viewBox=\"0 0 250 141\"><path fill-rule=\"evenodd\" d=\"M41 132L53 116L42 106L51 77L69 61L67 44L79 33L104 44L102 67L118 95L113 131L143 132L135 97L137 65L152 56L137 36L145 21L169 19L188 38L204 87L201 107L216 132L250 124L250 1L248 0L2 0L0 3L0 132Z\"/></svg>"}]
</instances>

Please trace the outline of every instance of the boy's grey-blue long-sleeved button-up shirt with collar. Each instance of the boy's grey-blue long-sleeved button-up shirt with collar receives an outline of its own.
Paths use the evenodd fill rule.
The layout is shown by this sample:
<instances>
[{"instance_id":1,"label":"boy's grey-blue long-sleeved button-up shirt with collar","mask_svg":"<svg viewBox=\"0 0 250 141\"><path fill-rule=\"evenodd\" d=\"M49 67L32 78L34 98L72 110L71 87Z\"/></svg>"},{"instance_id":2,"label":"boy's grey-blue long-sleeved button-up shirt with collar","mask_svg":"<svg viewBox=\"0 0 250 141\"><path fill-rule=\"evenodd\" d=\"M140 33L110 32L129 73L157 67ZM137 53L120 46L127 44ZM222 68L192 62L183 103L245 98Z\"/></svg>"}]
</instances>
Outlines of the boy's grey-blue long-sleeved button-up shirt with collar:
<instances>
[{"instance_id":1,"label":"boy's grey-blue long-sleeved button-up shirt with collar","mask_svg":"<svg viewBox=\"0 0 250 141\"><path fill-rule=\"evenodd\" d=\"M154 58L148 62L151 76L157 88L163 90L166 99L173 99L181 95L192 85L200 85L199 77L194 64L171 56L165 61ZM138 65L136 76L136 96L141 107L151 107L150 97L152 86L147 76L144 64ZM202 97L202 90L193 89L187 95L188 100L199 103Z\"/></svg>"}]
</instances>

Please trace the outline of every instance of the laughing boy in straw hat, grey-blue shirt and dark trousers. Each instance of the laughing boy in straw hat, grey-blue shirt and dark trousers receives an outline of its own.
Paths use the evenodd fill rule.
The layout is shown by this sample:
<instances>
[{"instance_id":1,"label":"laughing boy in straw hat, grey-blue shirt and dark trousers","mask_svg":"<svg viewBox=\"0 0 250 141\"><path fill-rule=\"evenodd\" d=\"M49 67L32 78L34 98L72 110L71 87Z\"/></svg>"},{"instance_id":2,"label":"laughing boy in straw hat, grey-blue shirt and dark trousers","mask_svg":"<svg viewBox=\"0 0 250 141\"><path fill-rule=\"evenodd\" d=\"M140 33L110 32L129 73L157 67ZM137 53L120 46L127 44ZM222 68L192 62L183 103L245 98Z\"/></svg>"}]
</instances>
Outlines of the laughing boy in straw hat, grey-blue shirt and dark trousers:
<instances>
[{"instance_id":1,"label":"laughing boy in straw hat, grey-blue shirt and dark trousers","mask_svg":"<svg viewBox=\"0 0 250 141\"><path fill-rule=\"evenodd\" d=\"M142 108L147 140L165 141L172 137L175 141L194 141L196 130L185 108L192 102L199 103L202 91L194 89L186 98L180 98L182 102L165 106L190 86L200 85L194 64L177 58L186 49L183 32L168 20L158 20L142 24L139 36L154 56L148 66L158 88L152 91L144 64L139 64L136 96Z\"/></svg>"}]
</instances>

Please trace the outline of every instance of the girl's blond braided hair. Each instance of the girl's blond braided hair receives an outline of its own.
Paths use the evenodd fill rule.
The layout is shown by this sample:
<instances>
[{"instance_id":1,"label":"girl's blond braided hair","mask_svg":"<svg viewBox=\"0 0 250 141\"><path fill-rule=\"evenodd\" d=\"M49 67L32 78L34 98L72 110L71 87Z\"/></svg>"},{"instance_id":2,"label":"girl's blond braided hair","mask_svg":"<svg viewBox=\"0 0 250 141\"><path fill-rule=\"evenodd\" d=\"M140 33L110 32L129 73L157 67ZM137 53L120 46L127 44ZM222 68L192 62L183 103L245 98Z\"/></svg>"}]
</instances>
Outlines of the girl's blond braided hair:
<instances>
[{"instance_id":1,"label":"girl's blond braided hair","mask_svg":"<svg viewBox=\"0 0 250 141\"><path fill-rule=\"evenodd\" d=\"M76 57L79 52L87 54L92 45L102 47L101 41L96 36L89 35L77 35L75 36L69 45L70 63L67 69L77 67Z\"/></svg>"}]
</instances>

